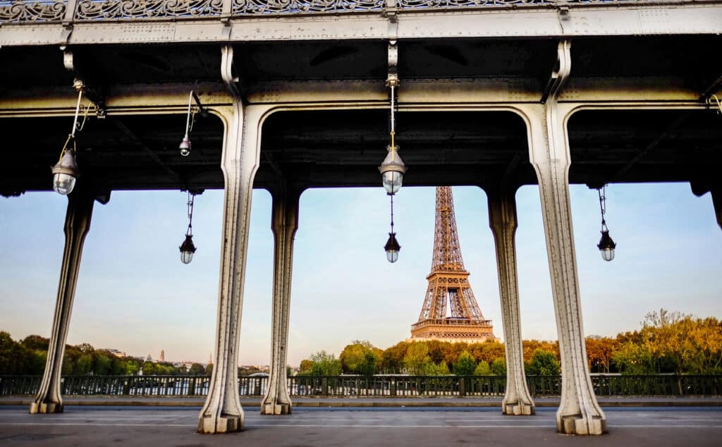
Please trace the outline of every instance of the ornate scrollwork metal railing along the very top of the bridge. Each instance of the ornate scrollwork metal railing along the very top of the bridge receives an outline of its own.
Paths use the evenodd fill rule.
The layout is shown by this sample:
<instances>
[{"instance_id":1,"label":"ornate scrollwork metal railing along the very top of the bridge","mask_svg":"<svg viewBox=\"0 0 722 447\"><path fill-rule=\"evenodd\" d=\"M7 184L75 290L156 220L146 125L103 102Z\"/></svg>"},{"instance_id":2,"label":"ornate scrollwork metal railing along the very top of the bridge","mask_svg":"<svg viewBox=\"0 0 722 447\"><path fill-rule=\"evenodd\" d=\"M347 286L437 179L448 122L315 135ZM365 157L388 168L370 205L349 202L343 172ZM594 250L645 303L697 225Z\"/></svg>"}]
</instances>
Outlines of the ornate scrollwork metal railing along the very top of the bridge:
<instances>
[{"instance_id":1,"label":"ornate scrollwork metal railing along the very top of the bridge","mask_svg":"<svg viewBox=\"0 0 722 447\"><path fill-rule=\"evenodd\" d=\"M660 0L0 0L0 24L96 20L258 17L388 10L519 8L588 4L661 3Z\"/></svg>"}]
</instances>

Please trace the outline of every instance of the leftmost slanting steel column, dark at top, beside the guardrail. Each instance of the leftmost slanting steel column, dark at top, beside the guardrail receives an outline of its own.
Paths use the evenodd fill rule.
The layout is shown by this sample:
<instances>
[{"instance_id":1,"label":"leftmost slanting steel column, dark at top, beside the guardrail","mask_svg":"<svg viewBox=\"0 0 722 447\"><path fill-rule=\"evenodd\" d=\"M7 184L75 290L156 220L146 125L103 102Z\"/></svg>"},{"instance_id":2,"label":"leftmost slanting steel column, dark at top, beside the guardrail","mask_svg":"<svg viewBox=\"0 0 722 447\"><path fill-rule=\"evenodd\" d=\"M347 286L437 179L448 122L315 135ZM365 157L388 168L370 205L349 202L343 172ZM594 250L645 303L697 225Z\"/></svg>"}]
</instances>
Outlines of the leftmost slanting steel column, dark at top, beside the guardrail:
<instances>
[{"instance_id":1,"label":"leftmost slanting steel column, dark at top, beside the guardrail","mask_svg":"<svg viewBox=\"0 0 722 447\"><path fill-rule=\"evenodd\" d=\"M85 236L90 230L94 201L95 196L84 191L82 187L76 188L76 191L68 196L68 208L65 214L65 249L53 315L53 329L48 344L43 381L40 382L40 390L35 400L30 404L31 413L63 412L60 375L63 370L63 355L75 298L75 286L78 282L80 258Z\"/></svg>"}]
</instances>

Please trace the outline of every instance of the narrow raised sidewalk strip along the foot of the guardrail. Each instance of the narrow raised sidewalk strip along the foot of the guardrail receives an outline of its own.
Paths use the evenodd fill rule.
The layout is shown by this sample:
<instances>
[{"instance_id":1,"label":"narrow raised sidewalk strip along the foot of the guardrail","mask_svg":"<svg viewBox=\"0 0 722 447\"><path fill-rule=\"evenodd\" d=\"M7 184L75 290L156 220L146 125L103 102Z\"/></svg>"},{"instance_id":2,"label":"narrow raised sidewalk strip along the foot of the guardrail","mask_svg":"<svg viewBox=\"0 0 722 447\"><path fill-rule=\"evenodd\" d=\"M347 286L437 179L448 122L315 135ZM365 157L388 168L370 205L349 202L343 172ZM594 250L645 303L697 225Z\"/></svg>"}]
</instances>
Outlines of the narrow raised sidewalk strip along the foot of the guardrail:
<instances>
[{"instance_id":1,"label":"narrow raised sidewalk strip along the foot of the guardrail","mask_svg":"<svg viewBox=\"0 0 722 447\"><path fill-rule=\"evenodd\" d=\"M294 407L501 407L498 397L297 397L291 399ZM602 407L722 407L722 396L703 397L599 397ZM202 407L205 396L64 396L64 405L90 405L108 407ZM32 396L1 396L0 405L30 405ZM243 397L243 407L260 407L261 398ZM558 397L534 399L536 407L559 407Z\"/></svg>"}]
</instances>

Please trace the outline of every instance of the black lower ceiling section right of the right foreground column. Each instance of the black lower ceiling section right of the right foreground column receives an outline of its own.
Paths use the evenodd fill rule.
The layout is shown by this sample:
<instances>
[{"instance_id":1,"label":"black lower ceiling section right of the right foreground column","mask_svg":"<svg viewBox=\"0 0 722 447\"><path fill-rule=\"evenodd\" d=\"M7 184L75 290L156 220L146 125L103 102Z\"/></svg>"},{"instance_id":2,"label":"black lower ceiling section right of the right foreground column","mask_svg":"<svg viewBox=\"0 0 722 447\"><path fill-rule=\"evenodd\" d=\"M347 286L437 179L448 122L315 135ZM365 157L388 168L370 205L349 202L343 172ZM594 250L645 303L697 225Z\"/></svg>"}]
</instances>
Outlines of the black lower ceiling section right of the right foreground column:
<instances>
[{"instance_id":1,"label":"black lower ceiling section right of the right foreground column","mask_svg":"<svg viewBox=\"0 0 722 447\"><path fill-rule=\"evenodd\" d=\"M711 181L722 166L713 110L587 110L569 121L570 181Z\"/></svg>"}]
</instances>

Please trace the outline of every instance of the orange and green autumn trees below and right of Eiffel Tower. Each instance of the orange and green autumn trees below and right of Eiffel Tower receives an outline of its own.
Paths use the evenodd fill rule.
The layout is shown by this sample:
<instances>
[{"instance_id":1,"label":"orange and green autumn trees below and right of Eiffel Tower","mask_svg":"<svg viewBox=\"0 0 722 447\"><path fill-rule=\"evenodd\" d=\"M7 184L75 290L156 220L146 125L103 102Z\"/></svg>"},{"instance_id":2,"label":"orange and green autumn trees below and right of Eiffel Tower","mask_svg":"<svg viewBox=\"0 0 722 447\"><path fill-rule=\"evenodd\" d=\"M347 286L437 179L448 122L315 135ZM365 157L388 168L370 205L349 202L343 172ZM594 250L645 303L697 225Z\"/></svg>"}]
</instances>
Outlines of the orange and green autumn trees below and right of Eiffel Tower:
<instances>
[{"instance_id":1,"label":"orange and green autumn trees below and right of Eiffel Tower","mask_svg":"<svg viewBox=\"0 0 722 447\"><path fill-rule=\"evenodd\" d=\"M592 373L722 374L722 321L695 318L664 309L648 313L636 331L617 337L587 337L586 352ZM529 375L560 373L556 341L523 341L523 358ZM326 351L303 360L299 374L412 374L420 376L503 376L504 344L451 343L437 340L399 342L380 350L367 340L354 340L338 358Z\"/></svg>"}]
</instances>

